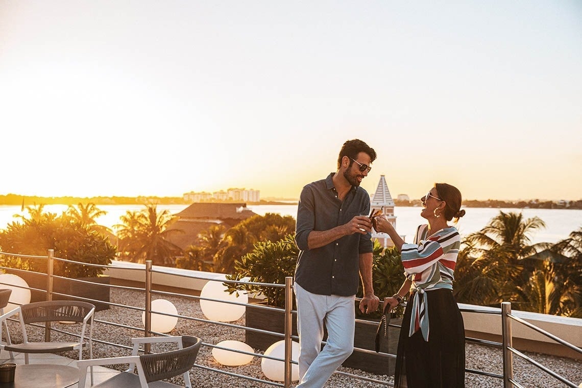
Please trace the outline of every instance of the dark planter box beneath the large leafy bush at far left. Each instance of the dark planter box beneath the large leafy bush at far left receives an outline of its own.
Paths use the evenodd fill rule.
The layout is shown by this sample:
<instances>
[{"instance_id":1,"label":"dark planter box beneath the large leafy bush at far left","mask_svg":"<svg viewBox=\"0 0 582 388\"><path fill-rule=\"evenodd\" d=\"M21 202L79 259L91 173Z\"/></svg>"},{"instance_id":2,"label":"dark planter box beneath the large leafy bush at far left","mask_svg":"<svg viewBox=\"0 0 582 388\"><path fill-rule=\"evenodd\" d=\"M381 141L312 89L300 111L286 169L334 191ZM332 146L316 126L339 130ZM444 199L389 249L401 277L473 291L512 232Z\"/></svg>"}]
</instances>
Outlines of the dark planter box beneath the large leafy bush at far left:
<instances>
[{"instance_id":1,"label":"dark planter box beneath the large leafy bush at far left","mask_svg":"<svg viewBox=\"0 0 582 388\"><path fill-rule=\"evenodd\" d=\"M5 270L6 273L13 273L14 275L22 277L33 289L47 290L47 275L34 272L22 272ZM54 293L68 294L81 298L95 299L104 302L109 302L109 276L100 275L94 277L79 277L79 280L85 282L92 282L95 284L86 284L74 282L74 279L59 279L54 278L52 283L52 291ZM101 285L103 284L103 285ZM63 297L53 294L53 300L75 300L75 298ZM30 301L39 302L47 300L47 293L42 291L30 290ZM109 308L109 305L99 302L92 302L95 305L95 311L101 311Z\"/></svg>"}]
</instances>

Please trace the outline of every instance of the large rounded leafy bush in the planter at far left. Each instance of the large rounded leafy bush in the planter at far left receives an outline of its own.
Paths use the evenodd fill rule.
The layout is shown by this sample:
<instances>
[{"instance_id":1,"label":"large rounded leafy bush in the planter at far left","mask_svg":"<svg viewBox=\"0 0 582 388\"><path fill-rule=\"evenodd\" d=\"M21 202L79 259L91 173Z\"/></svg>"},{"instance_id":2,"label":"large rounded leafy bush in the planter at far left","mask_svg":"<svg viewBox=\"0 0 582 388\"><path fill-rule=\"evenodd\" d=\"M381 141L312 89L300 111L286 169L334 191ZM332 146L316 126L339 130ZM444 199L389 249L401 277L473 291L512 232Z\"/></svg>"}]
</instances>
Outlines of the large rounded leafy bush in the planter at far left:
<instances>
[{"instance_id":1,"label":"large rounded leafy bush in the planter at far left","mask_svg":"<svg viewBox=\"0 0 582 388\"><path fill-rule=\"evenodd\" d=\"M90 230L86 225L70 218L42 212L42 205L29 209L30 218L12 222L0 232L2 250L23 254L46 256L49 249L55 257L72 261L107 265L115 257L116 250L109 240ZM3 264L11 268L45 272L46 263L32 258L3 258ZM92 277L103 273L104 268L55 261L54 274L65 277Z\"/></svg>"}]
</instances>

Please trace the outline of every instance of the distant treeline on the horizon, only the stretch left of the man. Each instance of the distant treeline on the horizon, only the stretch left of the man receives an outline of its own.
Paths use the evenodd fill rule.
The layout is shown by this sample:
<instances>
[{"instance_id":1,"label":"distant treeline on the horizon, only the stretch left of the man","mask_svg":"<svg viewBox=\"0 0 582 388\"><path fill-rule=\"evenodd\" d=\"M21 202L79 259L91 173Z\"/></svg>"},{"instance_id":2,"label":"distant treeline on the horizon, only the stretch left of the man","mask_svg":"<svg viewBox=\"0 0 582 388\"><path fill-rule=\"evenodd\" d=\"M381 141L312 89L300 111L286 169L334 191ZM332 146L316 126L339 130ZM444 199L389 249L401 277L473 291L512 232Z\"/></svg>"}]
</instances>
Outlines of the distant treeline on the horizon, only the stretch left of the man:
<instances>
[{"instance_id":1,"label":"distant treeline on the horizon, only the stretch left of the man","mask_svg":"<svg viewBox=\"0 0 582 388\"><path fill-rule=\"evenodd\" d=\"M229 202L229 201L222 201ZM240 203L243 201L230 201ZM34 205L189 205L192 202L182 197L32 197L27 195L7 194L0 195L0 205L21 205L24 207ZM260 201L246 202L248 205L289 205L289 202Z\"/></svg>"}]
</instances>

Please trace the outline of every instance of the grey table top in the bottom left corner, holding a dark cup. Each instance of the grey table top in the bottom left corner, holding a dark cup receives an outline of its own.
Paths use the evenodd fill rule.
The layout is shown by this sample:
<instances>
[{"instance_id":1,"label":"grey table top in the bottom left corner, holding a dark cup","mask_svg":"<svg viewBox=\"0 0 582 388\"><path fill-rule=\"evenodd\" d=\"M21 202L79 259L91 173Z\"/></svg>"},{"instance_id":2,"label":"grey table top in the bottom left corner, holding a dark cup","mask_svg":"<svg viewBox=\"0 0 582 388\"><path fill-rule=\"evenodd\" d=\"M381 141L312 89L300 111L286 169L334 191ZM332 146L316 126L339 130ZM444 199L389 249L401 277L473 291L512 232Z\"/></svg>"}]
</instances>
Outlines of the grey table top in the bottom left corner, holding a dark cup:
<instances>
[{"instance_id":1,"label":"grey table top in the bottom left corner, holding a dark cup","mask_svg":"<svg viewBox=\"0 0 582 388\"><path fill-rule=\"evenodd\" d=\"M16 365L14 382L0 388L66 388L79 382L79 369L58 364Z\"/></svg>"}]
</instances>

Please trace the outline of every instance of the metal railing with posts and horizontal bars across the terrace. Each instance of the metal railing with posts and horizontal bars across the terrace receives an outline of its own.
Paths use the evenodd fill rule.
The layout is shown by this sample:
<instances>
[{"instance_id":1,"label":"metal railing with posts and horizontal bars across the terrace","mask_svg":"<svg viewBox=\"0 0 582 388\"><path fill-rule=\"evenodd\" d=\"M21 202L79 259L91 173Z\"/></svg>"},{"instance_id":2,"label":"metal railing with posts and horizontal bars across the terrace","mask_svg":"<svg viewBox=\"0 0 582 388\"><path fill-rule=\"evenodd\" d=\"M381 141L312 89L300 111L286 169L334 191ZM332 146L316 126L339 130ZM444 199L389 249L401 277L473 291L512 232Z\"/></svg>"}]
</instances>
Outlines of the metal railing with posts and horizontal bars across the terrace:
<instances>
[{"instance_id":1,"label":"metal railing with posts and horizontal bars across the terrace","mask_svg":"<svg viewBox=\"0 0 582 388\"><path fill-rule=\"evenodd\" d=\"M228 351L231 351L234 353L240 353L243 355L252 355L253 357L260 357L260 358L273 359L275 361L281 361L281 362L283 362L283 365L284 365L284 379L283 379L282 383L274 382L272 380L259 379L259 378L255 378L253 376L242 375L240 373L225 371L223 369L212 368L211 366L208 366L208 365L194 364L194 366L196 368L200 368L200 369L203 369L205 371L210 371L213 373L222 373L223 375L232 376L234 378L246 379L246 380L251 380L251 381L255 381L255 382L265 383L268 385L281 386L281 387L285 387L285 388L288 388L291 386L291 383L292 383L292 380L291 380L292 379L292 373L291 373L292 365L297 365L297 361L292 360L292 341L299 340L299 338L297 336L294 336L292 334L292 314L293 313L296 314L296 311L292 310L292 301L293 301L293 290L292 290L293 280L292 280L292 277L286 277L285 284L275 284L275 283L247 282L244 280L217 279L216 277L198 276L198 275L183 274L183 273L171 273L172 276L185 277L185 278L197 279L197 280L205 280L207 282L213 281L213 282L222 282L224 284L246 284L247 286L281 287L281 288L285 289L285 308L282 309L282 308L271 307L271 306L266 306L266 305L249 304L249 303L245 303L245 302L222 300L222 299L218 299L218 298L209 298L209 297L196 296L196 295L191 295L191 294L176 293L176 292L172 292L172 291L156 290L156 289L154 289L154 283L152 282L152 275L154 273L163 273L165 275L168 275L169 272L164 271L162 269L154 269L151 261L147 261L145 263L145 268L135 268L133 266L122 266L122 265L112 266L112 265L90 264L90 263L85 263L85 262L56 258L56 257L54 257L54 253L52 250L48 251L47 256L20 255L20 254L12 254L9 252L0 252L0 257L41 259L41 260L47 261L47 273L33 272L33 271L11 268L11 267L6 267L6 266L0 265L0 269L10 270L10 272L13 272L13 273L21 273L22 274L22 273L27 273L27 272L33 272L37 275L42 275L42 276L45 276L47 278L46 279L47 280L46 290L38 289L35 287L22 287L22 286L18 286L15 284L9 284L10 287L27 288L31 291L38 291L41 293L45 293L47 300L52 300L52 298L54 298L54 297L74 298L76 300L82 300L82 301L86 301L86 302L100 303L102 305L107 305L108 308L109 307L116 307L116 308L129 309L129 310L133 310L133 311L145 312L145 319L144 319L144 327L143 328L126 325L126 324L120 323L120 322L109 322L109 321L100 320L100 319L94 320L94 323L96 323L96 324L110 325L110 326L113 326L116 328L133 330L134 332L139 332L140 335L143 335L145 337L148 337L151 335L168 336L169 334L155 332L154 330L151 329L152 314L156 314L156 315L171 316L173 318L183 319L185 321L202 322L202 323L208 323L211 325L219 325L219 326L223 326L226 328L241 329L241 330L245 330L245 332L255 332L255 333L268 334L271 336L281 337L285 341L285 353L284 353L283 358L272 357L271 355L266 355L266 354L261 354L261 353L250 353L250 352L247 352L244 350L226 348L226 347L222 347L222 346L219 346L217 344L212 344L212 343L204 343L203 342L203 346L208 347L208 348L217 348L217 349L221 349L221 350L228 350ZM55 261L56 262L66 262L68 264L83 265L83 266L94 267L94 268L102 268L104 270L105 269L123 269L123 270L132 270L132 271L137 271L137 272L144 272L144 279L145 279L144 280L144 287L121 286L121 285L117 285L117 284L100 284L100 283L94 283L94 282L90 282L90 281L82 280L82 279L70 279L67 277L54 275L53 269L54 269L54 262ZM54 291L54 289L53 289L55 279L59 279L59 280L60 279L67 279L69 281L79 283L79 284L81 284L81 286L83 284L93 284L93 285L96 284L96 285L101 286L101 287L108 287L109 289L130 290L130 291L141 292L141 293L144 293L145 307L142 308L142 307L136 307L136 306L127 305L127 304L120 304L120 303L111 302L111 301L102 301L102 300L88 298L88 297L80 297L80 296L74 296L74 295L65 294L65 293L59 293L59 292ZM176 284L179 284L179 283L180 283L179 281L176 282ZM0 288L2 287L2 284L7 284L7 283L0 282ZM274 331L269 331L269 330L252 328L249 326L236 325L235 323L212 321L211 319L202 319L202 318L197 318L194 316L188 316L188 315L182 315L182 314L171 314L169 312L157 311L155 309L152 309L152 306L151 306L152 296L154 296L154 295L187 298L190 300L197 300L197 301L205 300L205 301L220 302L220 303L239 305L239 306L243 305L244 307L252 306L253 308L264 309L264 310L269 310L269 311L282 311L284 314L285 329L283 330L283 332L274 332ZM402 304L402 305L405 306L406 304ZM559 380L560 382L564 383L568 387L572 387L572 388L579 387L575 383L570 382L569 380L567 380L563 376L559 375L559 373L552 371L551 369L549 369L545 365L542 365L540 362L535 361L534 359L528 357L527 355L521 353L519 350L514 348L513 344L512 344L513 343L513 341L512 341L512 321L520 323L521 325L524 325L527 328L534 330L535 332L543 334L544 336L555 341L556 343L558 343L562 346L565 346L565 347L569 348L570 350L573 350L577 353L582 354L582 349L577 347L577 346L574 346L573 344L568 343L565 340L560 339L559 337L557 337L551 333L546 332L545 330L543 330L541 328L538 328L537 326L531 324L530 322L524 321L524 319L521 319L521 318L513 315L511 313L511 305L509 302L502 302L501 311L487 311L487 310L473 309L473 308L460 308L460 311L472 312L472 313L477 313L477 314L501 315L501 321L502 321L502 328L501 328L502 342L501 343L499 343L497 341L476 339L476 338L471 338L471 337L466 337L466 341L485 345L485 346L492 346L492 347L501 348L501 350L502 350L502 362L503 362L503 373L499 374L499 373L492 373L492 372L487 372L487 371L480 371L477 369L466 368L465 370L467 373L473 373L475 375L482 375L482 376L487 376L489 378L503 380L503 387L504 388L521 387L520 383L516 379L514 379L514 377L513 377L513 355L515 355L516 357L524 359L526 362L535 366L536 368L541 369L541 371L544 371L549 376L551 376L553 379ZM366 321L366 320L361 320L361 319L358 319L357 321L377 323L374 321ZM51 328L49 323L45 326L41 326L41 325L36 325L36 326L38 326L39 328L42 328L42 327L45 328L45 341L50 341L51 331L54 331L56 333L62 333L62 334L67 334L67 335L78 337L78 334L70 333L70 332L67 332L66 330ZM389 327L400 328L400 325L397 325L395 323L390 323ZM113 342L110 342L110 341L107 341L104 339L93 339L93 341L95 341L95 343L113 346L113 347L117 347L117 348L120 348L123 350L130 350L132 348L130 346L125 346L123 344L113 343ZM322 344L325 344L325 341L322 341ZM150 348L149 348L148 344L145 344L143 351L145 353L150 352ZM396 357L395 354L383 353L383 352L376 353L375 351L364 349L364 348L358 348L358 347L354 347L354 352L363 353L363 354L378 354L378 355L381 355L382 357L386 357L386 358L395 358ZM373 382L373 383L377 383L379 385L394 386L394 384L392 382L389 382L389 381L369 378L367 376L356 375L354 373L336 371L335 374L341 375L341 376L347 376L347 377L353 378L353 379L359 379L359 380L363 380L363 381Z\"/></svg>"}]
</instances>

